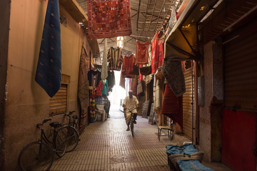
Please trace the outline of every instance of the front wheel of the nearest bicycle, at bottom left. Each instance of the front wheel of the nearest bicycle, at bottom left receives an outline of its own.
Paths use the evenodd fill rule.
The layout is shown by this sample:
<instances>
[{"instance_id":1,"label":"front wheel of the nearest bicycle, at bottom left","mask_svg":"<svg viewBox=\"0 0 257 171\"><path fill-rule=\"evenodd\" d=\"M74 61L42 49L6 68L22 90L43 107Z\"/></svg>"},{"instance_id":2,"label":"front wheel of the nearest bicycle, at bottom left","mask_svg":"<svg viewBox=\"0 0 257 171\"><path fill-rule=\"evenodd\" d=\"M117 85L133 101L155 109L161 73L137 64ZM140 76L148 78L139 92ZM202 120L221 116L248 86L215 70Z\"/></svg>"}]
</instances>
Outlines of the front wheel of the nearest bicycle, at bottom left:
<instances>
[{"instance_id":1,"label":"front wheel of the nearest bicycle, at bottom left","mask_svg":"<svg viewBox=\"0 0 257 171\"><path fill-rule=\"evenodd\" d=\"M23 171L47 171L53 164L53 158L52 147L35 141L23 148L19 156L19 165Z\"/></svg>"}]
</instances>

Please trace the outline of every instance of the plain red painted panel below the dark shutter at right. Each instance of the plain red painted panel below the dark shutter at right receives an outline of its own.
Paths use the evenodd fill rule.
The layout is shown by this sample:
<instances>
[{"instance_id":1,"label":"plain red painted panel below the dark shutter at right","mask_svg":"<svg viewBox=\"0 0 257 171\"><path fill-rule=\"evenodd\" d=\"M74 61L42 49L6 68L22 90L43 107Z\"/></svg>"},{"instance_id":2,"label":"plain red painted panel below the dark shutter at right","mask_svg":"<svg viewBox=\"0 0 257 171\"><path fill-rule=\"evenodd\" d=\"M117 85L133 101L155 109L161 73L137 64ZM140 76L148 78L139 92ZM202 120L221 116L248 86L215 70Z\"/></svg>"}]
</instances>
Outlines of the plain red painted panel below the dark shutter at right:
<instances>
[{"instance_id":1,"label":"plain red painted panel below the dark shutter at right","mask_svg":"<svg viewBox=\"0 0 257 171\"><path fill-rule=\"evenodd\" d=\"M232 170L256 170L256 114L222 109L222 162Z\"/></svg>"}]
</instances>

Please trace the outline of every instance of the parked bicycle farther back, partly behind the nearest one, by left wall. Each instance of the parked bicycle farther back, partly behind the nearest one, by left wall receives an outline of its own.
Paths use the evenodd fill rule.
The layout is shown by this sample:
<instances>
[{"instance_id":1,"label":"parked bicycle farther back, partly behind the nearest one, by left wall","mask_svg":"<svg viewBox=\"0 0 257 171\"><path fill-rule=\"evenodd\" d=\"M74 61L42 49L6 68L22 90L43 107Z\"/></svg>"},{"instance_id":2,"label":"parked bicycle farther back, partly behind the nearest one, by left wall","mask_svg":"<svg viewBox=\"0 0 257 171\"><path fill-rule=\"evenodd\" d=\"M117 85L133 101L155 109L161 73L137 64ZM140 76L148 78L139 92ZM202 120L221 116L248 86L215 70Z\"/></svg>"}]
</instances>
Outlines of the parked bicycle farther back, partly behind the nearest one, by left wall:
<instances>
[{"instance_id":1,"label":"parked bicycle farther back, partly behind the nearest one, by left wall","mask_svg":"<svg viewBox=\"0 0 257 171\"><path fill-rule=\"evenodd\" d=\"M71 152L73 151L80 139L79 139L79 132L77 131L77 129L79 129L79 125L78 125L78 116L77 115L74 115L73 116L73 127L72 127L72 124L71 124L71 115L73 114L73 112L75 111L70 111L69 114L65 113L63 116L66 117L67 119L67 125L63 125L63 127L60 129L62 131L65 132L66 134L66 141L67 141L67 148L66 148L66 152ZM69 119L68 119L69 117ZM77 127L77 129L75 129Z\"/></svg>"}]
</instances>

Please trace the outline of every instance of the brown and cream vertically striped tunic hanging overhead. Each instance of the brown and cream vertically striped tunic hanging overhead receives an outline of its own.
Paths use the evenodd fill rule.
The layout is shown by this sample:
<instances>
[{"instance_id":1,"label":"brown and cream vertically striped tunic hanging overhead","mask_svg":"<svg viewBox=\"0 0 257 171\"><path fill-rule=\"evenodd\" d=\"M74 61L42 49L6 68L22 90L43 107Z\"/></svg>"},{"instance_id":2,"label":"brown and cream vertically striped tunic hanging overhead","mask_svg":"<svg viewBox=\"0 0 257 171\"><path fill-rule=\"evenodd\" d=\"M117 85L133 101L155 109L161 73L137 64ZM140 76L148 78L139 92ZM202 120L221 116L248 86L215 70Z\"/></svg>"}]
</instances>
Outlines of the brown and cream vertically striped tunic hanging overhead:
<instances>
[{"instance_id":1,"label":"brown and cream vertically striped tunic hanging overhead","mask_svg":"<svg viewBox=\"0 0 257 171\"><path fill-rule=\"evenodd\" d=\"M107 55L108 70L120 71L121 64L123 62L121 48L117 47L117 49L110 47Z\"/></svg>"}]
</instances>

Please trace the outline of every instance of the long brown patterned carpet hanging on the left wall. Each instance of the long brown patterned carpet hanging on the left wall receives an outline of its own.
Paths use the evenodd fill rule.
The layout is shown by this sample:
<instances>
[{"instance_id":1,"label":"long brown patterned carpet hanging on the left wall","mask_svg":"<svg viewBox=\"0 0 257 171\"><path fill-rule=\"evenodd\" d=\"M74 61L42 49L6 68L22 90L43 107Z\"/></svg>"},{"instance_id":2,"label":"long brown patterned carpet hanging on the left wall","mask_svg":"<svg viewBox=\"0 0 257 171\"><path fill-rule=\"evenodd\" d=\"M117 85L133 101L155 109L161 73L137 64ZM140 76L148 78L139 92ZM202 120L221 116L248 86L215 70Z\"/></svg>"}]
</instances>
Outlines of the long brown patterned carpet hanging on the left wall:
<instances>
[{"instance_id":1,"label":"long brown patterned carpet hanging on the left wall","mask_svg":"<svg viewBox=\"0 0 257 171\"><path fill-rule=\"evenodd\" d=\"M80 62L79 62L79 81L78 81L78 97L80 101L81 109L86 109L89 106L89 81L87 77L89 65L89 56L86 54L86 50L82 47Z\"/></svg>"}]
</instances>

